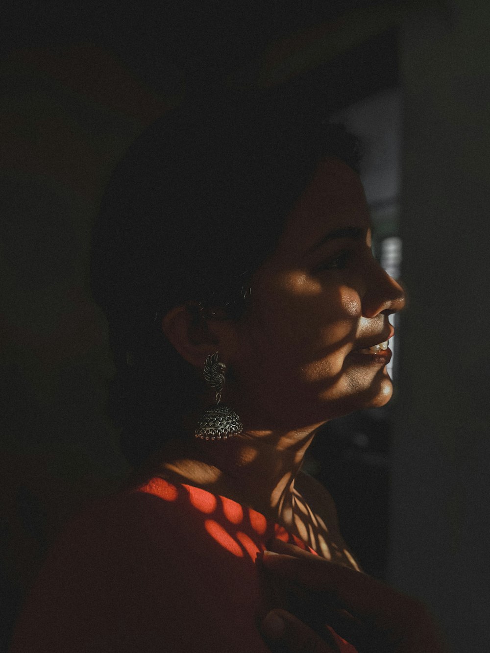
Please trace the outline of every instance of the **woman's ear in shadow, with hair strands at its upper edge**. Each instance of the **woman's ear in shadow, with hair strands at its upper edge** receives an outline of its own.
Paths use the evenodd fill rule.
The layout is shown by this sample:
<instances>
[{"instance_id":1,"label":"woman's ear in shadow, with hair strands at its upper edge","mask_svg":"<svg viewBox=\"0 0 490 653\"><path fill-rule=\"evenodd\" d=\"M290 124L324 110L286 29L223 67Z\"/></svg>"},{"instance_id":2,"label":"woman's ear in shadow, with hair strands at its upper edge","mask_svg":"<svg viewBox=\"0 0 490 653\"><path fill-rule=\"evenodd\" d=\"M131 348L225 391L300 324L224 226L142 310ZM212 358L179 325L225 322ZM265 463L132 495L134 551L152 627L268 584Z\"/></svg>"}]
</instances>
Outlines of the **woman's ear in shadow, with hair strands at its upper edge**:
<instances>
[{"instance_id":1,"label":"woman's ear in shadow, with hair strands at its upper edge","mask_svg":"<svg viewBox=\"0 0 490 653\"><path fill-rule=\"evenodd\" d=\"M227 321L196 319L186 306L177 306L163 317L161 325L165 336L191 365L202 368L215 351L220 352L223 362L229 360L234 338Z\"/></svg>"}]
</instances>

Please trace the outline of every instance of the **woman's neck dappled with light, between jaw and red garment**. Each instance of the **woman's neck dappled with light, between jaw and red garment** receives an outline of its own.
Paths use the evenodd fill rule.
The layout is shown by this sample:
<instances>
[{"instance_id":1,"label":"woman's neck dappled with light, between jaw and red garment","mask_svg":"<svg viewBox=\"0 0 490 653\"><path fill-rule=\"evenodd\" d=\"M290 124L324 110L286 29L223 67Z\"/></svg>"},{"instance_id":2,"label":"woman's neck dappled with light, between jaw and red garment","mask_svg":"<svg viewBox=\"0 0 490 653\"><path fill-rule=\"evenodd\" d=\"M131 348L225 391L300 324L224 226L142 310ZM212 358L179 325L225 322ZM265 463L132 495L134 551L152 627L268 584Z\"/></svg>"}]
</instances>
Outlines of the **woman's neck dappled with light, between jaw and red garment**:
<instances>
[{"instance_id":1,"label":"woman's neck dappled with light, between jaw and red garment","mask_svg":"<svg viewBox=\"0 0 490 653\"><path fill-rule=\"evenodd\" d=\"M286 433L245 432L221 441L172 440L159 451L158 473L281 521L291 511L295 478L315 428L318 424Z\"/></svg>"}]
</instances>

